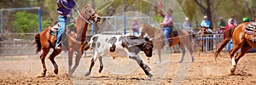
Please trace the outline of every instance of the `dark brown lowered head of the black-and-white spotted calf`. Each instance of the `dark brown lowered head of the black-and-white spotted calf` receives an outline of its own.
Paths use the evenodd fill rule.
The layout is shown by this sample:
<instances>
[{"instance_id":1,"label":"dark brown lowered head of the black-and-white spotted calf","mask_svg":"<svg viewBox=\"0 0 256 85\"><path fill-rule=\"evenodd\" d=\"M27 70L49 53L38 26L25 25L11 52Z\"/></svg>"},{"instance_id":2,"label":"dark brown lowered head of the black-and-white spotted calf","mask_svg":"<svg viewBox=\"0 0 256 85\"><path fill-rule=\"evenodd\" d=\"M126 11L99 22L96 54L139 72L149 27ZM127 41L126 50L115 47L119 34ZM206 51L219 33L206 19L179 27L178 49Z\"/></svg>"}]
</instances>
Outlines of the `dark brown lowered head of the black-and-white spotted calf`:
<instances>
[{"instance_id":1,"label":"dark brown lowered head of the black-and-white spotted calf","mask_svg":"<svg viewBox=\"0 0 256 85\"><path fill-rule=\"evenodd\" d=\"M144 54L147 55L147 57L152 57L152 53L153 53L153 42L152 40L149 40L147 37L145 37L145 43L143 44L143 52Z\"/></svg>"}]
</instances>

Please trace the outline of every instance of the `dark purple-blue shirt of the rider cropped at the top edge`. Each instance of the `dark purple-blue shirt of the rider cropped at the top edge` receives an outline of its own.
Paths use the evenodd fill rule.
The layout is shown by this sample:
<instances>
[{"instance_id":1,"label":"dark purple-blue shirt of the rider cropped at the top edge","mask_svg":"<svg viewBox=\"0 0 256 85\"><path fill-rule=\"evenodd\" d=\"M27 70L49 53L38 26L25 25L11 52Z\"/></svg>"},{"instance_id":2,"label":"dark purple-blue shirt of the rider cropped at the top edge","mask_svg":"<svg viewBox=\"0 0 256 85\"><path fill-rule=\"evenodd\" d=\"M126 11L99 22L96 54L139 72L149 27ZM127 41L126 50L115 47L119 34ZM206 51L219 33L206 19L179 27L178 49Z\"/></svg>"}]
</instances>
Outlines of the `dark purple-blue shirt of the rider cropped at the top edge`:
<instances>
[{"instance_id":1,"label":"dark purple-blue shirt of the rider cropped at the top edge","mask_svg":"<svg viewBox=\"0 0 256 85\"><path fill-rule=\"evenodd\" d=\"M58 9L57 9L58 13L67 15L69 14L73 6L76 5L76 3L74 0L58 0L57 5L58 5Z\"/></svg>"}]
</instances>

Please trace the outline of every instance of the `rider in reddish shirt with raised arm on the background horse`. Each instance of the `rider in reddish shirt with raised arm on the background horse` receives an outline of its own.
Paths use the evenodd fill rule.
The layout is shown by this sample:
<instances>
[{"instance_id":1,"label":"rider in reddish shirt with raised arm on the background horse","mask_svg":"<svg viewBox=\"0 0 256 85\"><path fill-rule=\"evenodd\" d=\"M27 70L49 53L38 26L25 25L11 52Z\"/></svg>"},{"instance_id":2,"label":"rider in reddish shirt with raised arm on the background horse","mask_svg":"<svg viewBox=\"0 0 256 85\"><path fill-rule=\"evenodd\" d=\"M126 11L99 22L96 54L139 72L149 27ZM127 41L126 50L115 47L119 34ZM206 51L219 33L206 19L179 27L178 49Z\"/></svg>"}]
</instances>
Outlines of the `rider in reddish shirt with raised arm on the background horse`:
<instances>
[{"instance_id":1,"label":"rider in reddish shirt with raised arm on the background horse","mask_svg":"<svg viewBox=\"0 0 256 85\"><path fill-rule=\"evenodd\" d=\"M165 37L166 37L166 47L170 47L170 42L169 42L169 34L172 32L172 26L173 26L173 17L172 17L172 9L169 8L167 11L167 14L163 14L162 11L160 11L160 8L158 8L158 13L164 17L164 21L160 23L161 28L164 31Z\"/></svg>"}]
</instances>

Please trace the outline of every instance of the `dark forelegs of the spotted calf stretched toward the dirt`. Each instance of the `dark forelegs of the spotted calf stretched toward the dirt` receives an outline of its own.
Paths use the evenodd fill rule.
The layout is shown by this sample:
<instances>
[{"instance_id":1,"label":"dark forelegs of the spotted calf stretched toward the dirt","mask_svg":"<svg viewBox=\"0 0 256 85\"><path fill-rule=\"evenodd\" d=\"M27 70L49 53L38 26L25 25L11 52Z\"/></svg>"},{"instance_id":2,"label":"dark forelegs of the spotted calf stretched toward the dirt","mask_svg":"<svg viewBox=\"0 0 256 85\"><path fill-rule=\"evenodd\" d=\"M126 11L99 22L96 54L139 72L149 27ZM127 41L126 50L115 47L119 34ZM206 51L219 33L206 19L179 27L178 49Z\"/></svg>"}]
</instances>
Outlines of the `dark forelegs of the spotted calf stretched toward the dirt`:
<instances>
[{"instance_id":1,"label":"dark forelegs of the spotted calf stretched toward the dirt","mask_svg":"<svg viewBox=\"0 0 256 85\"><path fill-rule=\"evenodd\" d=\"M148 67L148 65L145 65L143 63L143 60L138 58L137 56L135 55L131 55L129 56L130 59L134 59L137 61L137 64L143 69L143 71L145 72L145 74L148 76L148 77L153 77L152 74L150 74L148 71L151 71L151 69Z\"/></svg>"}]
</instances>

